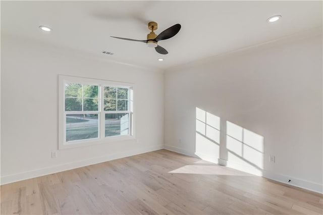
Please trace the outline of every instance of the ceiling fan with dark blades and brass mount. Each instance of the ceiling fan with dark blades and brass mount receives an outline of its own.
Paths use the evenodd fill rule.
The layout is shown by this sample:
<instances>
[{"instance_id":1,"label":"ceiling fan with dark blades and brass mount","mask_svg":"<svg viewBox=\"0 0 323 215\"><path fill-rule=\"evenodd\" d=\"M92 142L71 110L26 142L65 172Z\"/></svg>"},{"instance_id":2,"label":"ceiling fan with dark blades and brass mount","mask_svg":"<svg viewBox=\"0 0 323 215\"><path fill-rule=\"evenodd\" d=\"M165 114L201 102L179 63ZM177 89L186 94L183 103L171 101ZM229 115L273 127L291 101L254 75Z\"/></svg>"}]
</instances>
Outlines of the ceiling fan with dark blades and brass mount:
<instances>
[{"instance_id":1,"label":"ceiling fan with dark blades and brass mount","mask_svg":"<svg viewBox=\"0 0 323 215\"><path fill-rule=\"evenodd\" d=\"M148 23L148 29L150 29L151 32L147 34L147 40L128 39L128 38L122 38L122 37L116 37L116 36L111 36L111 37L130 40L130 41L144 42L144 43L147 43L148 47L155 48L155 50L161 55L166 55L168 54L168 51L165 48L158 45L157 43L159 40L169 39L175 36L180 31L181 25L180 24L173 25L172 27L169 27L165 31L158 34L158 36L153 32L154 30L157 30L157 27L158 26L156 22Z\"/></svg>"}]
</instances>

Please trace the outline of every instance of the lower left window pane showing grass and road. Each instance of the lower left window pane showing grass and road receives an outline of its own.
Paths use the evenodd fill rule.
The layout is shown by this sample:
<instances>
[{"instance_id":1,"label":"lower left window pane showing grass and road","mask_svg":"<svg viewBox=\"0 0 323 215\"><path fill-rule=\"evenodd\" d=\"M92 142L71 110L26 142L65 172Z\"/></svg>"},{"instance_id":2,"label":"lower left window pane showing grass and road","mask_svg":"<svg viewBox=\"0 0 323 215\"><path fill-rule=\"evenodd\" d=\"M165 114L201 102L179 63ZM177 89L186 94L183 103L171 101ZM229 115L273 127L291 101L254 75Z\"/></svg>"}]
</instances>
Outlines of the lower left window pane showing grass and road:
<instances>
[{"instance_id":1,"label":"lower left window pane showing grass and road","mask_svg":"<svg viewBox=\"0 0 323 215\"><path fill-rule=\"evenodd\" d=\"M97 114L66 115L66 142L98 138Z\"/></svg>"}]
</instances>

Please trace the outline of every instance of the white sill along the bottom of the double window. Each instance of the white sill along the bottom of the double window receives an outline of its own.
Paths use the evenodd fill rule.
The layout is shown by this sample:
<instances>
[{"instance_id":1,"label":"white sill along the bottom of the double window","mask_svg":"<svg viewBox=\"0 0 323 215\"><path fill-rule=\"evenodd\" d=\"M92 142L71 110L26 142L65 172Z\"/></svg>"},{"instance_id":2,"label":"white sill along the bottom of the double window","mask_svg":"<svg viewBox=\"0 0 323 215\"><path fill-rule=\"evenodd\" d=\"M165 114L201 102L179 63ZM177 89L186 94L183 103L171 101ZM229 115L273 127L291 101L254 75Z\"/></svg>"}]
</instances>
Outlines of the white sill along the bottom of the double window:
<instances>
[{"instance_id":1,"label":"white sill along the bottom of the double window","mask_svg":"<svg viewBox=\"0 0 323 215\"><path fill-rule=\"evenodd\" d=\"M131 135L123 135L123 136L105 137L102 139L90 139L85 141L83 140L83 141L66 142L66 143L59 144L59 150L99 145L99 144L112 143L112 142L122 142L122 141L129 141L129 140L135 141L136 139L134 136L131 136Z\"/></svg>"}]
</instances>

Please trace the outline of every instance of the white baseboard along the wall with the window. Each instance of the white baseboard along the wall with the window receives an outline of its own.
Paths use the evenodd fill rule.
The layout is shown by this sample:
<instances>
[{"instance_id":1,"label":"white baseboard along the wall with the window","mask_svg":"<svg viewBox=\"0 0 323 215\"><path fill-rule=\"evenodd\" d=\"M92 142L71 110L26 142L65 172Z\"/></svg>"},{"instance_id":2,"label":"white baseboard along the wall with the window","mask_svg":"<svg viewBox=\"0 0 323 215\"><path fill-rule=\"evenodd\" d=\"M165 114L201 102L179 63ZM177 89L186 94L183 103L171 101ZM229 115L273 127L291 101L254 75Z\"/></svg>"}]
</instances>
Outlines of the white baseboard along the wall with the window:
<instances>
[{"instance_id":1,"label":"white baseboard along the wall with the window","mask_svg":"<svg viewBox=\"0 0 323 215\"><path fill-rule=\"evenodd\" d=\"M32 170L28 172L7 175L1 177L1 185L9 184L17 181L22 181L26 179L31 179L39 176L44 176L48 174L58 173L62 171L72 170L80 167L85 167L88 165L98 164L102 162L107 162L109 160L119 159L123 157L128 157L136 154L146 153L149 151L155 151L158 149L163 149L164 145L155 145L145 148L138 148L134 150L124 151L116 154L109 154L107 156L94 157L90 159L78 160L77 162L66 163L57 166L46 167L42 169Z\"/></svg>"}]
</instances>

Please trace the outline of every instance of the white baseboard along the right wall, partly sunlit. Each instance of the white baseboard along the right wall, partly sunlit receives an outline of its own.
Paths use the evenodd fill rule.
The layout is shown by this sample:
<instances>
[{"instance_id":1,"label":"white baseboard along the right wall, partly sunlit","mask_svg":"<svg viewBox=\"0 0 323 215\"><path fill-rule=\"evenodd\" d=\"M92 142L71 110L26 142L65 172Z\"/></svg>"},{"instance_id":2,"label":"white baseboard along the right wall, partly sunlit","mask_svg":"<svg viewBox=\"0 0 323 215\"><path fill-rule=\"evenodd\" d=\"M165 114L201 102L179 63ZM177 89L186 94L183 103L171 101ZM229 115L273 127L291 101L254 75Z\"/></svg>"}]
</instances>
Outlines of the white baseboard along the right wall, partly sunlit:
<instances>
[{"instance_id":1,"label":"white baseboard along the right wall, partly sunlit","mask_svg":"<svg viewBox=\"0 0 323 215\"><path fill-rule=\"evenodd\" d=\"M203 159L202 157L206 158L205 160L210 161L210 160L214 160L216 162L216 164L220 164L222 166L226 166L232 169L237 169L246 173L250 173L256 176L261 176L263 178L267 178L267 179L271 179L274 181L278 181L284 184L288 184L288 185L292 185L295 187L299 187L299 188L303 188L306 190L310 190L310 191L314 191L317 193L323 193L323 185L322 184L318 184L315 182L310 182L310 181L306 181L306 180L302 180L302 179L298 179L298 178L293 178L290 176L286 176L286 175L282 175L282 174L277 174L277 173L273 173L270 171L266 171L266 170L258 170L256 168L252 168L249 166L245 166L239 163L235 163L235 162L230 162L228 160L225 159L221 159L221 158L216 158L216 157L210 157L210 156L206 156L205 154L199 154L199 153L195 153L192 154L191 152L185 150L185 149L181 149L178 147L174 147L174 146L170 146L170 145L165 145L165 149L171 150L171 151L175 151L181 154L185 154L188 156L192 156L192 157L197 157ZM212 161L210 161L212 162ZM291 182L288 182L289 180L291 180Z\"/></svg>"}]
</instances>

